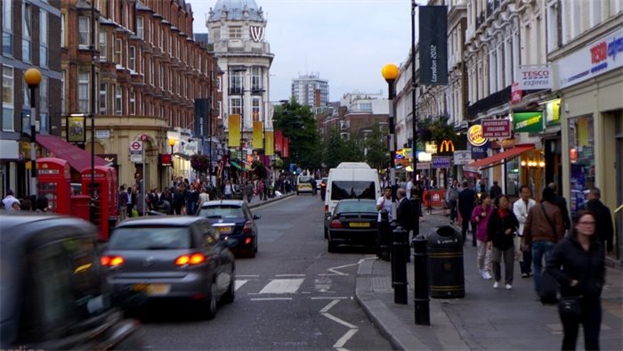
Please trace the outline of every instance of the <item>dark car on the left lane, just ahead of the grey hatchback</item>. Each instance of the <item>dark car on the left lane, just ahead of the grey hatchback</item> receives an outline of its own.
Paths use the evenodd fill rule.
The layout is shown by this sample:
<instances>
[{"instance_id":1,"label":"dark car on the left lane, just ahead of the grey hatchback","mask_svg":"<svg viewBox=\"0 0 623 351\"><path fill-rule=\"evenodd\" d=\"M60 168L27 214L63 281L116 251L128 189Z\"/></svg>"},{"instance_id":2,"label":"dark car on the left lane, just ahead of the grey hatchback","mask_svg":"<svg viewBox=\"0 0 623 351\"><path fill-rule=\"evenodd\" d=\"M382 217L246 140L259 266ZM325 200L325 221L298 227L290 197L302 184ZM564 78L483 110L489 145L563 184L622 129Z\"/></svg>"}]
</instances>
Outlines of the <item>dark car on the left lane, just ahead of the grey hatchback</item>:
<instances>
[{"instance_id":1,"label":"dark car on the left lane, just ahead of the grey hatchback","mask_svg":"<svg viewBox=\"0 0 623 351\"><path fill-rule=\"evenodd\" d=\"M207 220L221 233L221 240L231 241L235 253L255 257L257 253L257 224L260 216L253 215L247 201L214 200L207 201L199 208L197 216Z\"/></svg>"}]
</instances>

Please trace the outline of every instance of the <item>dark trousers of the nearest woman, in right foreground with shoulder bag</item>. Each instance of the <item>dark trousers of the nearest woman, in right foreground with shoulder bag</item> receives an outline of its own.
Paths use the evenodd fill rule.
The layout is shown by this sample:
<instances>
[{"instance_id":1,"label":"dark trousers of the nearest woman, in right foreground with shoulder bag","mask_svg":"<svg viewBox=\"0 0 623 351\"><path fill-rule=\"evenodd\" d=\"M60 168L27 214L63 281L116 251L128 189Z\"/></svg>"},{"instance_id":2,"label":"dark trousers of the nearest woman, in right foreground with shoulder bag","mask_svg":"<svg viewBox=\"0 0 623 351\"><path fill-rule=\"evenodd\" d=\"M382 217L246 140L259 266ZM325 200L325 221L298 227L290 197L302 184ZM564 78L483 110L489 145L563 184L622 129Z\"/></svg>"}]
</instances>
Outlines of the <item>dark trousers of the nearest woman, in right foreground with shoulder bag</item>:
<instances>
[{"instance_id":1,"label":"dark trousers of the nearest woman, in right foreground with shoulder bag","mask_svg":"<svg viewBox=\"0 0 623 351\"><path fill-rule=\"evenodd\" d=\"M584 348L587 350L599 349L599 331L602 325L602 305L600 300L583 298L581 302L582 314L560 314L562 322L562 350L575 350L578 341L579 323L584 330Z\"/></svg>"}]
</instances>

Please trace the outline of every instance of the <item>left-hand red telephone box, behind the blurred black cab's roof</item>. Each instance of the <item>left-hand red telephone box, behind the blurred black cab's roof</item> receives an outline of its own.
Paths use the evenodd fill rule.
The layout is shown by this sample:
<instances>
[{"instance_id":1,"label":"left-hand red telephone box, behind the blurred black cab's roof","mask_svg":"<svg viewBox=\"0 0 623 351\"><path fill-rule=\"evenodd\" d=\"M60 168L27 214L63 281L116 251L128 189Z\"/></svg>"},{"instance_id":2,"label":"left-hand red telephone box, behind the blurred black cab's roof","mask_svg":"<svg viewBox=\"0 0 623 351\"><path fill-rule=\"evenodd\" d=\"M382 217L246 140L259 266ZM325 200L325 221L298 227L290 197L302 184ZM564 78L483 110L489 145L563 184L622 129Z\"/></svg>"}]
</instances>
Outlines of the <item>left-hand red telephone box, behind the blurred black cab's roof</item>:
<instances>
[{"instance_id":1,"label":"left-hand red telephone box, behind the blurred black cab's roof","mask_svg":"<svg viewBox=\"0 0 623 351\"><path fill-rule=\"evenodd\" d=\"M71 171L65 159L36 159L38 196L48 200L48 209L62 215L71 212Z\"/></svg>"}]
</instances>

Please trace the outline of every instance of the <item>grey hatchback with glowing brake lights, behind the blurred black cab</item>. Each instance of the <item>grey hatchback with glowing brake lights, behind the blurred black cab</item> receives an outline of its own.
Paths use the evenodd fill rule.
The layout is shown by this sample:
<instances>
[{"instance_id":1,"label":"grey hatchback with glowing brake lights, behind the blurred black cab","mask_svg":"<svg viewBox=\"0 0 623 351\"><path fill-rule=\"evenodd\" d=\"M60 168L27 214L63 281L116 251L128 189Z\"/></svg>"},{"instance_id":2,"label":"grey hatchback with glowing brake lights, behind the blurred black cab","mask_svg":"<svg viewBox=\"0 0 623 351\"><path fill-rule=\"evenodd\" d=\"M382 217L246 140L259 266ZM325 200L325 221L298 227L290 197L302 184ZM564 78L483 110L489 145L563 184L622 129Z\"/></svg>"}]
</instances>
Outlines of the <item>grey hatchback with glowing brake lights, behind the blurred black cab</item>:
<instances>
[{"instance_id":1,"label":"grey hatchback with glowing brake lights, behind the blurred black cab","mask_svg":"<svg viewBox=\"0 0 623 351\"><path fill-rule=\"evenodd\" d=\"M217 302L233 302L235 292L234 257L219 235L197 216L130 219L115 227L101 265L113 290L197 300L212 319Z\"/></svg>"}]
</instances>

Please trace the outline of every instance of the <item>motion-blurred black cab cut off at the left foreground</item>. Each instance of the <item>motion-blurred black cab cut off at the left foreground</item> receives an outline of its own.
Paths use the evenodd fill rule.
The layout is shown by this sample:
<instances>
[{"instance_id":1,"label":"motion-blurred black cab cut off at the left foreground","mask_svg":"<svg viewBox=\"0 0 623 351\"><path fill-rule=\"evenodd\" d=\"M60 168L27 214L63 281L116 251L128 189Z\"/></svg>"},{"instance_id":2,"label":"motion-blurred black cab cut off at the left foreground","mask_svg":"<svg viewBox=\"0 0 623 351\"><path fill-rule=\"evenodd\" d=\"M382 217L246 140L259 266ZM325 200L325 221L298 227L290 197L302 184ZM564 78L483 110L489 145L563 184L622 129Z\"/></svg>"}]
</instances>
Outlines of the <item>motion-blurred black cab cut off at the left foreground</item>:
<instances>
[{"instance_id":1,"label":"motion-blurred black cab cut off at the left foreground","mask_svg":"<svg viewBox=\"0 0 623 351\"><path fill-rule=\"evenodd\" d=\"M116 308L97 229L65 216L0 216L0 349L141 349Z\"/></svg>"}]
</instances>

